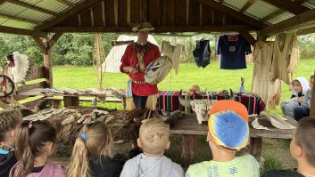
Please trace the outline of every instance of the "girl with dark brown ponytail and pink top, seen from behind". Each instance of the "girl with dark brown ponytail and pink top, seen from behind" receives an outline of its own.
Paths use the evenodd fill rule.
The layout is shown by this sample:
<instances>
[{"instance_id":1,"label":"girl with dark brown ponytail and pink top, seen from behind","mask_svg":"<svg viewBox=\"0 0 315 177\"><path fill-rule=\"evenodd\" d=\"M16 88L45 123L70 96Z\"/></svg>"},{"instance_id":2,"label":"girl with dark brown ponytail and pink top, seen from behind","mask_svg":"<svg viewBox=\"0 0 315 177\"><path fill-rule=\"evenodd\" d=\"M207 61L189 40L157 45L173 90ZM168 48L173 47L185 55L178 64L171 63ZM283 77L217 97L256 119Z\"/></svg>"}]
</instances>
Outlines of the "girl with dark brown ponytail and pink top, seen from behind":
<instances>
[{"instance_id":1,"label":"girl with dark brown ponytail and pink top, seen from behind","mask_svg":"<svg viewBox=\"0 0 315 177\"><path fill-rule=\"evenodd\" d=\"M18 163L10 177L64 177L61 165L47 162L54 154L56 130L48 121L24 121L15 130L15 153Z\"/></svg>"}]
</instances>

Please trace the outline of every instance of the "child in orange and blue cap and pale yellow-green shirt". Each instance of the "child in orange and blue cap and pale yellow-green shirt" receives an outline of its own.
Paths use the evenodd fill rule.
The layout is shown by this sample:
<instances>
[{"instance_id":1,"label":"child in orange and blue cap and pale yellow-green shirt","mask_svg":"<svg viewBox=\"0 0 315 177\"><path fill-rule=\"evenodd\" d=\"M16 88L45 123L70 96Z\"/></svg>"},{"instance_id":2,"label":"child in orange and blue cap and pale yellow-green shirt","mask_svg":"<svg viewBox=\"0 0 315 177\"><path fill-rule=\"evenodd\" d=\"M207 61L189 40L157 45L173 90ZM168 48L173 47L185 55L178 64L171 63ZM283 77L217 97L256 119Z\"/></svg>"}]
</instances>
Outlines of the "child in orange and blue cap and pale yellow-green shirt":
<instances>
[{"instance_id":1,"label":"child in orange and blue cap and pale yellow-green shirt","mask_svg":"<svg viewBox=\"0 0 315 177\"><path fill-rule=\"evenodd\" d=\"M190 165L187 177L258 177L259 165L251 155L236 157L249 138L248 112L236 101L217 101L211 109L207 141L213 155L211 161Z\"/></svg>"}]
</instances>

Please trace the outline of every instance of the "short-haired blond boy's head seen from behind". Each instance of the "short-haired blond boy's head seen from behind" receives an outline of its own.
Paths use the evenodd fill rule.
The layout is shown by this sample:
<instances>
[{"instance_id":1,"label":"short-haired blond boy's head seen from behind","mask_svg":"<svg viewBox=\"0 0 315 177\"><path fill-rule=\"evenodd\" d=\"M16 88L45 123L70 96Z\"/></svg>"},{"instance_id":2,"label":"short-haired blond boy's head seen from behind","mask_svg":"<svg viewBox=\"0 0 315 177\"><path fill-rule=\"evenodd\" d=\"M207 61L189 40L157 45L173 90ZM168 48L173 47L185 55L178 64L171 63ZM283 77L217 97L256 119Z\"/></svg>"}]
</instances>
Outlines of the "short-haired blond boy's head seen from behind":
<instances>
[{"instance_id":1,"label":"short-haired blond boy's head seen from behind","mask_svg":"<svg viewBox=\"0 0 315 177\"><path fill-rule=\"evenodd\" d=\"M139 141L145 153L152 155L162 154L170 138L170 125L162 119L151 118L140 126Z\"/></svg>"}]
</instances>

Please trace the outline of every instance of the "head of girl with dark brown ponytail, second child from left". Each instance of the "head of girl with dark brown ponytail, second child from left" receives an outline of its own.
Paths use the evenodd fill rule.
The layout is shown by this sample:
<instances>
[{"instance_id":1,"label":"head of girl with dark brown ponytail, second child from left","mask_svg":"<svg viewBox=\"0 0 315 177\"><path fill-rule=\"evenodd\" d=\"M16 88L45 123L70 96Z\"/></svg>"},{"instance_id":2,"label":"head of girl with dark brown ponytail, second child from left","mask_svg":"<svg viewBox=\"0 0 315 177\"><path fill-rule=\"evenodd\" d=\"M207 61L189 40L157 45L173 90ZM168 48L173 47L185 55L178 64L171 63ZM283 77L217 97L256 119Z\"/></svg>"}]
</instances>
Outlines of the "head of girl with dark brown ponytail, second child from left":
<instances>
[{"instance_id":1,"label":"head of girl with dark brown ponytail, second child from left","mask_svg":"<svg viewBox=\"0 0 315 177\"><path fill-rule=\"evenodd\" d=\"M47 143L54 146L56 130L50 122L37 120L23 121L15 132L15 153L19 160L14 176L24 177L31 173L34 159L48 153Z\"/></svg>"}]
</instances>

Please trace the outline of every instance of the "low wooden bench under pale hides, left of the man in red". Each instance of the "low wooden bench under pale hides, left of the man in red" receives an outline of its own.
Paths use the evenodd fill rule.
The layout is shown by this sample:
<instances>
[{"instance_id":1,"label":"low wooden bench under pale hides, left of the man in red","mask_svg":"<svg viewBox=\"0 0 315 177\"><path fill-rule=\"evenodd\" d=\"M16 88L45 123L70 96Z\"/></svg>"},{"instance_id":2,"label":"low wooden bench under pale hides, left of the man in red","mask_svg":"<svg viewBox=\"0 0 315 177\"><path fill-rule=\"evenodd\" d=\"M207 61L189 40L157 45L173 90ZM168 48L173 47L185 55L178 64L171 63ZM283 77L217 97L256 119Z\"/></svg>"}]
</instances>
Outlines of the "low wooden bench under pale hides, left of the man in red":
<instances>
[{"instance_id":1,"label":"low wooden bench under pale hides, left of the man in red","mask_svg":"<svg viewBox=\"0 0 315 177\"><path fill-rule=\"evenodd\" d=\"M63 97L46 97L46 101L52 101L54 109L60 109L61 103L64 101L64 107L70 107L70 106L79 106L80 101L93 101L95 98L80 98L76 96L63 96ZM98 101L101 102L101 101ZM121 103L122 101L120 99L114 99L114 98L106 98L106 102L115 102L115 103Z\"/></svg>"}]
</instances>

